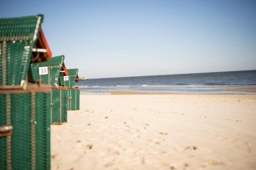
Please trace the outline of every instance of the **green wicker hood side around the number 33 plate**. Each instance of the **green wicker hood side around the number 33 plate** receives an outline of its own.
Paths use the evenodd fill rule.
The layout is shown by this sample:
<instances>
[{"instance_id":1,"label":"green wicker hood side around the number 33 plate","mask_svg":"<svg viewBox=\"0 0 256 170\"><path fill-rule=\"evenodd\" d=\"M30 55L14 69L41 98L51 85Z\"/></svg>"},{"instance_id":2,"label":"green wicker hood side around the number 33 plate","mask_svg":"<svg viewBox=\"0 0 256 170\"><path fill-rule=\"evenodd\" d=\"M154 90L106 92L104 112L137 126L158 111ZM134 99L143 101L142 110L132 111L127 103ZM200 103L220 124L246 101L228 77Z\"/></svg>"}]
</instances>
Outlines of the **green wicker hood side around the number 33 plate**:
<instances>
[{"instance_id":1,"label":"green wicker hood side around the number 33 plate","mask_svg":"<svg viewBox=\"0 0 256 170\"><path fill-rule=\"evenodd\" d=\"M33 63L29 69L29 81L41 81L42 84L49 84L51 86L58 85L60 70L63 64L64 56L53 57L50 61ZM47 75L39 75L39 67L48 68Z\"/></svg>"}]
</instances>

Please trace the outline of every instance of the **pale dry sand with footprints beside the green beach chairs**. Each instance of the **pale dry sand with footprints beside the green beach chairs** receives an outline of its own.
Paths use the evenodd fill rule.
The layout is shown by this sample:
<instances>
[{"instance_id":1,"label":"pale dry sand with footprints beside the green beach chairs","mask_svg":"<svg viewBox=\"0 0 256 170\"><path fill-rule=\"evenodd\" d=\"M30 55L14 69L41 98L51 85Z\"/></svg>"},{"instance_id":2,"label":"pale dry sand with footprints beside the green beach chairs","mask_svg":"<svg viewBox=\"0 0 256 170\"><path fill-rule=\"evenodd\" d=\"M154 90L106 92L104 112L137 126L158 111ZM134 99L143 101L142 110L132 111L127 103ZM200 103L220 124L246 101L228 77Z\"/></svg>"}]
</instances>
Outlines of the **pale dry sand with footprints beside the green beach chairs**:
<instances>
[{"instance_id":1,"label":"pale dry sand with footprints beside the green beach chairs","mask_svg":"<svg viewBox=\"0 0 256 170\"><path fill-rule=\"evenodd\" d=\"M52 169L256 169L256 95L80 96Z\"/></svg>"}]
</instances>

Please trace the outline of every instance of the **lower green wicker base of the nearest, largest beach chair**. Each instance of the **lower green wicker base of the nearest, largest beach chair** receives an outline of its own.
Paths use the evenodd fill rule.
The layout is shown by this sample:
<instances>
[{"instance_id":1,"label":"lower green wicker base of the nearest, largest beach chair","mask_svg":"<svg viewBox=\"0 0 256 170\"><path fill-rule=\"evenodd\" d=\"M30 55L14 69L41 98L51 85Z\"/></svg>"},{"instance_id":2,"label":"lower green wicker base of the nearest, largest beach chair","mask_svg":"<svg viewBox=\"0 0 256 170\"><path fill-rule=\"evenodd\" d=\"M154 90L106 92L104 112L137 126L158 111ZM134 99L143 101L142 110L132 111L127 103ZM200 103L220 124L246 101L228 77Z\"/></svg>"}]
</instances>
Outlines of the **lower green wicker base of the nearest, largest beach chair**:
<instances>
[{"instance_id":1,"label":"lower green wicker base of the nearest, largest beach chair","mask_svg":"<svg viewBox=\"0 0 256 170\"><path fill-rule=\"evenodd\" d=\"M0 89L0 169L50 169L49 85Z\"/></svg>"}]
</instances>

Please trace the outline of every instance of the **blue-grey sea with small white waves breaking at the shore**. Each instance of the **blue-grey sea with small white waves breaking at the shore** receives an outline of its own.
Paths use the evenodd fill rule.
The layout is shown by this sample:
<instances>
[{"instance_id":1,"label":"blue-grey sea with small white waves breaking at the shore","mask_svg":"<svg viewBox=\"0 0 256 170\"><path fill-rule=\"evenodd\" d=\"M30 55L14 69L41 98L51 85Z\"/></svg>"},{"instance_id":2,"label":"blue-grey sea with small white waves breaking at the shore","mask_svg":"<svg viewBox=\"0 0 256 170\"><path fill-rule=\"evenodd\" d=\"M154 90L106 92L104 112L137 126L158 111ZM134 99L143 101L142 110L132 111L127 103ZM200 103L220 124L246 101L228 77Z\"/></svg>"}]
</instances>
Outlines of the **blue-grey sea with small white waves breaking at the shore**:
<instances>
[{"instance_id":1,"label":"blue-grey sea with small white waves breaking at the shore","mask_svg":"<svg viewBox=\"0 0 256 170\"><path fill-rule=\"evenodd\" d=\"M110 91L256 94L218 90L256 87L256 70L89 79L75 85L80 87L81 93L86 94L110 94Z\"/></svg>"}]
</instances>

